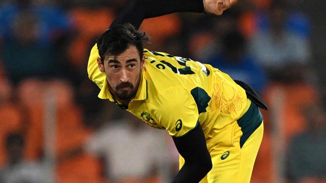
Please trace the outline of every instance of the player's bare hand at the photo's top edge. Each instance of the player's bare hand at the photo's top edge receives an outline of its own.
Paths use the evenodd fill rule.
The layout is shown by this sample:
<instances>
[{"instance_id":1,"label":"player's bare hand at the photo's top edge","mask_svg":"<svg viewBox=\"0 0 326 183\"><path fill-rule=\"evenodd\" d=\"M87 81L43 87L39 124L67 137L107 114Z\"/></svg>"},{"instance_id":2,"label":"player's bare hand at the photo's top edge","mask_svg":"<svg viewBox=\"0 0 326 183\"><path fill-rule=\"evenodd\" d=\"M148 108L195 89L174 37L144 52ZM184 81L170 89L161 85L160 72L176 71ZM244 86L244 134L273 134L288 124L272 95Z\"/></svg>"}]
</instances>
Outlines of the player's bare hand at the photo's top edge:
<instances>
[{"instance_id":1,"label":"player's bare hand at the photo's top edge","mask_svg":"<svg viewBox=\"0 0 326 183\"><path fill-rule=\"evenodd\" d=\"M224 10L233 6L238 0L203 0L207 13L221 15Z\"/></svg>"}]
</instances>

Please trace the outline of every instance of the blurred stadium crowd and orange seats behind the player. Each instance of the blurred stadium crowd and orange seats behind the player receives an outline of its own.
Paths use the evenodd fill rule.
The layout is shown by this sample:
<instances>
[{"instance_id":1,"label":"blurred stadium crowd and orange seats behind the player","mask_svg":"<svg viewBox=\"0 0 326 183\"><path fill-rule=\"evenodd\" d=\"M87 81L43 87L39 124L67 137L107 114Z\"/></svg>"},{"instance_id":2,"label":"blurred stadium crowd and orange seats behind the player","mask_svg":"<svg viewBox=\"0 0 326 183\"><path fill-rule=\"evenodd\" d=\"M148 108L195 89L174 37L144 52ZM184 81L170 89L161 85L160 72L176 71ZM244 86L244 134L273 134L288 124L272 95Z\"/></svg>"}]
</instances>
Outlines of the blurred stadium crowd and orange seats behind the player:
<instances>
[{"instance_id":1,"label":"blurred stadium crowd and orange seats behind the player","mask_svg":"<svg viewBox=\"0 0 326 183\"><path fill-rule=\"evenodd\" d=\"M178 152L97 98L90 48L128 0L0 0L0 182L170 182ZM146 48L209 63L269 105L251 182L326 182L326 1L239 0L146 19Z\"/></svg>"}]
</instances>

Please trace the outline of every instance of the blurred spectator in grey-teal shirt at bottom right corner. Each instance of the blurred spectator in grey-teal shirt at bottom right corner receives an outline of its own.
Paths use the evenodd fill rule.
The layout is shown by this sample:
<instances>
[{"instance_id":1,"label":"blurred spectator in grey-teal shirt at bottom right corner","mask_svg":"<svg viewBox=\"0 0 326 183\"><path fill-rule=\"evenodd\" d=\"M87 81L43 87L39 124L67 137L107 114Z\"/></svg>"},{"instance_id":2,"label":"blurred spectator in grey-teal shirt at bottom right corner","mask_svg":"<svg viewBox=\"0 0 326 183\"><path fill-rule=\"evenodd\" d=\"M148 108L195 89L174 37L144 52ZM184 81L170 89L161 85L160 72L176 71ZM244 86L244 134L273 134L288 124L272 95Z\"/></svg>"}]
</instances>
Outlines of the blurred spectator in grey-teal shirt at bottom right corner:
<instances>
[{"instance_id":1,"label":"blurred spectator in grey-teal shirt at bottom right corner","mask_svg":"<svg viewBox=\"0 0 326 183\"><path fill-rule=\"evenodd\" d=\"M302 107L306 128L288 149L288 176L298 183L326 182L326 113L321 104Z\"/></svg>"}]
</instances>

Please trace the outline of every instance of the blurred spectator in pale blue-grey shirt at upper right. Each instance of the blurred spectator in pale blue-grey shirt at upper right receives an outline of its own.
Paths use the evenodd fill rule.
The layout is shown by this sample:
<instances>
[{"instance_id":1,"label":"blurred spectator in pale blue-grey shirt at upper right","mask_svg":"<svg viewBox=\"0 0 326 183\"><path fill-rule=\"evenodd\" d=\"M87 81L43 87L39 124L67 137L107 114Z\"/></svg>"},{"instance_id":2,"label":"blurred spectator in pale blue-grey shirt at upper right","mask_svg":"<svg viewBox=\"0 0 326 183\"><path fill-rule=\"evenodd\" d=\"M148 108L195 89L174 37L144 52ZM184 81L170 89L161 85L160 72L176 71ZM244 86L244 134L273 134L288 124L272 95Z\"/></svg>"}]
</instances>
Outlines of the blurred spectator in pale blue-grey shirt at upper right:
<instances>
[{"instance_id":1,"label":"blurred spectator in pale blue-grey shirt at upper right","mask_svg":"<svg viewBox=\"0 0 326 183\"><path fill-rule=\"evenodd\" d=\"M267 14L268 28L259 29L249 44L251 54L272 79L281 75L288 65L301 65L304 68L311 58L308 39L286 28L289 16L286 8L283 1L273 0Z\"/></svg>"}]
</instances>

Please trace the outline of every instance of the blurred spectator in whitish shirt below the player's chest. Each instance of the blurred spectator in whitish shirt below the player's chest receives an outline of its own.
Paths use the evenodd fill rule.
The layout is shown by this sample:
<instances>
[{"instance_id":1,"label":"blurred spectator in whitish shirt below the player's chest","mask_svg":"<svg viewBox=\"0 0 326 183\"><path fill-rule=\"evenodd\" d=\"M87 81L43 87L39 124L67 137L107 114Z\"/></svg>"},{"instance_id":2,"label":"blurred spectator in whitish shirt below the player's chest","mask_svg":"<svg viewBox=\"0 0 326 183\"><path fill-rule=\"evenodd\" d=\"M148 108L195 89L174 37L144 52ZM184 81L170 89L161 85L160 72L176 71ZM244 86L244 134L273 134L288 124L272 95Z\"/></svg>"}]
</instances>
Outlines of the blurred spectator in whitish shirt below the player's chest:
<instances>
[{"instance_id":1,"label":"blurred spectator in whitish shirt below the player's chest","mask_svg":"<svg viewBox=\"0 0 326 183\"><path fill-rule=\"evenodd\" d=\"M166 133L143 125L126 111L118 113L120 118L101 126L85 146L86 151L105 159L107 180L170 182ZM128 144L127 149L124 144Z\"/></svg>"}]
</instances>

